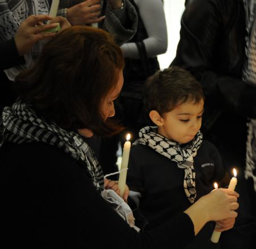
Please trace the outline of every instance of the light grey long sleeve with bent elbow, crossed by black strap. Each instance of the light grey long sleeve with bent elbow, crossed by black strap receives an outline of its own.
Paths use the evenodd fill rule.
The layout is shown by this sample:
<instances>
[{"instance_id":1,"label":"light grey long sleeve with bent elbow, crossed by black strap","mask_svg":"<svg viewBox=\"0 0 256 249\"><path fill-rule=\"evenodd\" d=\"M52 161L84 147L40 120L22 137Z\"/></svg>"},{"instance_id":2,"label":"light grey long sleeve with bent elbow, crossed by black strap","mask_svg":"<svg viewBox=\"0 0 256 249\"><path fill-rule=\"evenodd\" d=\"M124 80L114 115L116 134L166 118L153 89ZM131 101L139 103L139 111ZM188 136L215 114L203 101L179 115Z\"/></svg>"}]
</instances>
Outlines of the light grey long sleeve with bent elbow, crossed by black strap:
<instances>
[{"instance_id":1,"label":"light grey long sleeve with bent elbow, crossed by black strap","mask_svg":"<svg viewBox=\"0 0 256 249\"><path fill-rule=\"evenodd\" d=\"M162 0L135 0L135 3L148 34L148 38L143 40L148 57L165 53L168 39ZM121 49L125 57L139 59L139 52L135 43L125 43Z\"/></svg>"}]
</instances>

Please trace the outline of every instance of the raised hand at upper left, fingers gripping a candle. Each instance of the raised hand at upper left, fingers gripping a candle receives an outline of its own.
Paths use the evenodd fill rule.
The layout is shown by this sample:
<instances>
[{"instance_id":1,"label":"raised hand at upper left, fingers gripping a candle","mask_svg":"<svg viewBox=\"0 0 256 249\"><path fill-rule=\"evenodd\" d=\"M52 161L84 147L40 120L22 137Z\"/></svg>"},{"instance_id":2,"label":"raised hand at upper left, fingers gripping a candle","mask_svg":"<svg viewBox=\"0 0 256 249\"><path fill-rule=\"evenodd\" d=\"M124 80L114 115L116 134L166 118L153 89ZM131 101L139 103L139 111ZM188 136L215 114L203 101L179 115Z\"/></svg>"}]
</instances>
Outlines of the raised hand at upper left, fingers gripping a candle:
<instances>
[{"instance_id":1,"label":"raised hand at upper left, fingers gripping a candle","mask_svg":"<svg viewBox=\"0 0 256 249\"><path fill-rule=\"evenodd\" d=\"M16 47L20 56L30 51L32 46L39 40L52 38L55 33L43 33L49 28L57 27L56 23L41 25L44 20L52 20L48 15L31 15L20 24L14 37Z\"/></svg>"}]
</instances>

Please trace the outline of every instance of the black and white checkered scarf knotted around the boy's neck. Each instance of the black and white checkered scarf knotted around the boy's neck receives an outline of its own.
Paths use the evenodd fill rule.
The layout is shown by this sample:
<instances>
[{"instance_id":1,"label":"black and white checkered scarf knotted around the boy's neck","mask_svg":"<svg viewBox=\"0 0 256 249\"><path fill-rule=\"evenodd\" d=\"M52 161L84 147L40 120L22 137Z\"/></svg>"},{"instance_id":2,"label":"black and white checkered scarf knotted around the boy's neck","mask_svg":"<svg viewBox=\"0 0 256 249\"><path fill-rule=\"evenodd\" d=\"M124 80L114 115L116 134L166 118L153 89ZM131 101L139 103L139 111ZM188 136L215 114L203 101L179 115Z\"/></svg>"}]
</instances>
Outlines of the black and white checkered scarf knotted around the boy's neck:
<instances>
[{"instance_id":1,"label":"black and white checkered scarf knotted around the boy's neck","mask_svg":"<svg viewBox=\"0 0 256 249\"><path fill-rule=\"evenodd\" d=\"M139 131L139 139L134 143L144 144L151 147L156 152L176 161L177 167L184 169L184 190L189 202L193 203L196 198L196 173L193 167L193 157L196 156L197 150L203 141L201 132L197 132L195 138L186 146L182 147L179 143L164 138L157 134L158 127L147 126Z\"/></svg>"}]
</instances>

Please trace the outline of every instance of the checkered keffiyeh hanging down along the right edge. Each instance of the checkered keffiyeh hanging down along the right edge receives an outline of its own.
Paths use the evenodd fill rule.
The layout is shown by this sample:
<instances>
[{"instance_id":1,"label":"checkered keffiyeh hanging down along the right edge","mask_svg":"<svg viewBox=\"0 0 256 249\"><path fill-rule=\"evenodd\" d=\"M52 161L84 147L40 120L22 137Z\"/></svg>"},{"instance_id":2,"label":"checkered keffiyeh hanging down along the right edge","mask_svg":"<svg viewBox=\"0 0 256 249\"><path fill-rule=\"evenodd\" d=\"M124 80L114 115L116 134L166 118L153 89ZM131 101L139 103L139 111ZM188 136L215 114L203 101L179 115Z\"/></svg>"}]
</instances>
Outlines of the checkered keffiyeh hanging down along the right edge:
<instances>
[{"instance_id":1,"label":"checkered keffiyeh hanging down along the right edge","mask_svg":"<svg viewBox=\"0 0 256 249\"><path fill-rule=\"evenodd\" d=\"M256 85L256 0L244 0L246 13L246 63L243 68L243 80ZM256 96L255 96L256 97ZM251 177L256 191L256 119L247 123L245 178Z\"/></svg>"}]
</instances>

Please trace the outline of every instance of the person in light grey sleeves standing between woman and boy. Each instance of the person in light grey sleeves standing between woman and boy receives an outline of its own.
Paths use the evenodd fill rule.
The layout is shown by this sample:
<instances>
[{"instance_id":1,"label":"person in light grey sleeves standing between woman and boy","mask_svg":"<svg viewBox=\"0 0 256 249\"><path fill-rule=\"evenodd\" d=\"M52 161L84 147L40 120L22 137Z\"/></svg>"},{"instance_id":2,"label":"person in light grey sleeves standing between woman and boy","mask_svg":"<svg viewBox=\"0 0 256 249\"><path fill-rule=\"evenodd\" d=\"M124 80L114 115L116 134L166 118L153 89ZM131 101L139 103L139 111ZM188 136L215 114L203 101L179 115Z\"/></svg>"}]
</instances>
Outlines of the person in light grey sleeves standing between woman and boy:
<instances>
[{"instance_id":1,"label":"person in light grey sleeves standing between woman and boy","mask_svg":"<svg viewBox=\"0 0 256 249\"><path fill-rule=\"evenodd\" d=\"M159 69L157 56L167 50L167 27L162 0L130 0L137 11L137 32L121 46L125 57L124 85L116 101L117 117L126 129L113 138L102 138L100 162L104 172L117 171L118 144L127 132L135 141L139 130L150 123L143 112L142 88L148 77Z\"/></svg>"}]
</instances>

